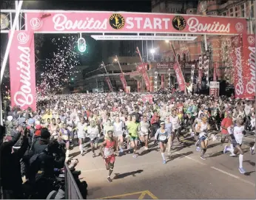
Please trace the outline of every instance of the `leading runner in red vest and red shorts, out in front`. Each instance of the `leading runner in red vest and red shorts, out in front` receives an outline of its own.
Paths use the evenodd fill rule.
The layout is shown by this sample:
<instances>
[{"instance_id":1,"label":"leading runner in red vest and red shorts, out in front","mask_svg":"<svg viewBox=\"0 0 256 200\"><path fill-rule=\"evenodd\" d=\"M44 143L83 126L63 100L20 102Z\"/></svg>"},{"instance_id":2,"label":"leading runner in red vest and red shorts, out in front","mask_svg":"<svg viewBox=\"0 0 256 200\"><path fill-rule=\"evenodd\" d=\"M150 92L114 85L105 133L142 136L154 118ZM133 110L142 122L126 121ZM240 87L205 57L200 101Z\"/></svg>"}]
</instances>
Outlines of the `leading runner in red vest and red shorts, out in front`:
<instances>
[{"instance_id":1,"label":"leading runner in red vest and red shorts, out in front","mask_svg":"<svg viewBox=\"0 0 256 200\"><path fill-rule=\"evenodd\" d=\"M105 138L104 142L101 143L101 156L105 160L106 169L109 171L109 176L107 176L107 180L109 182L112 182L112 179L110 178L112 171L114 170L114 164L115 164L115 154L118 155L117 148L116 148L117 142L113 137L112 131L107 131L107 137ZM104 151L103 151L104 148Z\"/></svg>"}]
</instances>

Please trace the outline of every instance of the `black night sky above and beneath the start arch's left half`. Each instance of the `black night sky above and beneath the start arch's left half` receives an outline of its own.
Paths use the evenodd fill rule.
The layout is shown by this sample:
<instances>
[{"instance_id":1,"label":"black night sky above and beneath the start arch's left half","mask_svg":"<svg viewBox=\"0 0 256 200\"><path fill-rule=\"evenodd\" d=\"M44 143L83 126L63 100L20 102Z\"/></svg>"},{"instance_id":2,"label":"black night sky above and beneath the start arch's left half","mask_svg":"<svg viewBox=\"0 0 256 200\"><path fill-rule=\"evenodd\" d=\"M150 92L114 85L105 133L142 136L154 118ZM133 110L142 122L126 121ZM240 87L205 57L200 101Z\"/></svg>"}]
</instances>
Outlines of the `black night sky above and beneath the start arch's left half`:
<instances>
[{"instance_id":1,"label":"black night sky above and beneath the start arch's left half","mask_svg":"<svg viewBox=\"0 0 256 200\"><path fill-rule=\"evenodd\" d=\"M14 1L13 1L14 2ZM14 4L9 7L2 7L1 9L14 9ZM151 1L150 0L115 0L115 1L24 1L22 9L27 10L95 10L95 11L127 11L127 12L151 12ZM68 34L44 34L44 40L41 43L41 47L36 48L40 52L36 54L38 59L54 59L53 52L56 52L56 46L53 44L53 39L58 40L63 36L69 36ZM74 35L74 34L73 34ZM71 36L73 36L71 35ZM78 34L75 34L75 36ZM83 34L83 38L87 41L87 52L79 55L79 65L92 66L89 68L95 68L98 62L102 61L101 58L101 42L95 41L90 37L90 34ZM1 56L4 56L4 52L7 46L7 34L1 34ZM3 57L2 57L3 58ZM38 80L38 75L44 71L45 61L39 61L36 64L36 79ZM89 70L90 71L90 70ZM7 82L9 82L6 79ZM5 82L5 81L4 81ZM8 84L7 84L8 85Z\"/></svg>"}]
</instances>

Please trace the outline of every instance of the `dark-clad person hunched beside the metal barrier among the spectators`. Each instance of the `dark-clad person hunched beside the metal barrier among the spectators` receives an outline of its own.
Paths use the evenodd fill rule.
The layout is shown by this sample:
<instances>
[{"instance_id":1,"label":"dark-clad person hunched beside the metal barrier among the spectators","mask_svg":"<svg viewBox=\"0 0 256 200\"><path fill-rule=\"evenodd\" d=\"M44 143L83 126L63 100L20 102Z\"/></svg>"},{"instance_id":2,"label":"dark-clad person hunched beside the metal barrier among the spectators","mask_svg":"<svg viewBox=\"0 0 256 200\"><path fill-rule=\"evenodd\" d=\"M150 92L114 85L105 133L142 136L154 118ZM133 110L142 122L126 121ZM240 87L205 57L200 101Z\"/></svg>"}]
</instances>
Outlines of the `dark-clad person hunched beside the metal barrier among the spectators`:
<instances>
[{"instance_id":1,"label":"dark-clad person hunched beside the metal barrier among the spectators","mask_svg":"<svg viewBox=\"0 0 256 200\"><path fill-rule=\"evenodd\" d=\"M28 199L46 199L53 190L55 169L64 168L65 151L57 140L50 141L47 148L30 159L28 182L24 184ZM33 193L31 193L33 191Z\"/></svg>"}]
</instances>

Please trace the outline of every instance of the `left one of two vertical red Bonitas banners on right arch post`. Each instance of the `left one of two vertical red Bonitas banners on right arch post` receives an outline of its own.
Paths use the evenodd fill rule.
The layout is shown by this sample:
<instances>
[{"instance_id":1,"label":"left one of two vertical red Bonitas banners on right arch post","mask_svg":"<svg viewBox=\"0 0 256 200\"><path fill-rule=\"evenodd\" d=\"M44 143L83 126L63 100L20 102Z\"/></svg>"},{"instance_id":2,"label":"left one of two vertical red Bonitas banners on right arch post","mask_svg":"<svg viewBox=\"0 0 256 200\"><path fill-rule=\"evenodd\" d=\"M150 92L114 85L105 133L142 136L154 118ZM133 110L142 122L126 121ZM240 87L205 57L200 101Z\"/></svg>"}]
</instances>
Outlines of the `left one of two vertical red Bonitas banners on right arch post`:
<instances>
[{"instance_id":1,"label":"left one of two vertical red Bonitas banners on right arch post","mask_svg":"<svg viewBox=\"0 0 256 200\"><path fill-rule=\"evenodd\" d=\"M243 44L241 35L232 37L232 58L234 66L235 98L244 98Z\"/></svg>"}]
</instances>

